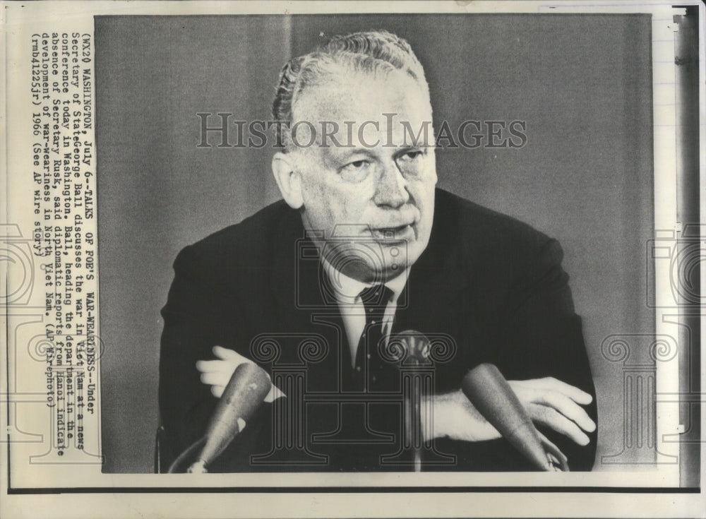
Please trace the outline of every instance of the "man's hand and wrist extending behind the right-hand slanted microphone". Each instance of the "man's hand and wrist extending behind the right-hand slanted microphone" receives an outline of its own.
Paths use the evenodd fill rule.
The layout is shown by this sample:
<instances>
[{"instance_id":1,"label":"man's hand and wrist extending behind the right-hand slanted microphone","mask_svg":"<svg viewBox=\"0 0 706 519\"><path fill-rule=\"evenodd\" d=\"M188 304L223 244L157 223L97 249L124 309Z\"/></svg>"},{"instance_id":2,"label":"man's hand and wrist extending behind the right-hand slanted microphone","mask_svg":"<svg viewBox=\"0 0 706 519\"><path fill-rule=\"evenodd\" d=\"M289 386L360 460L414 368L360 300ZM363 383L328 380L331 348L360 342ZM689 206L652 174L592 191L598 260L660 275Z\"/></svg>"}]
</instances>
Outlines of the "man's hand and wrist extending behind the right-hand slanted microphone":
<instances>
[{"instance_id":1,"label":"man's hand and wrist extending behind the right-hand slanted microphone","mask_svg":"<svg viewBox=\"0 0 706 519\"><path fill-rule=\"evenodd\" d=\"M581 405L590 404L591 395L552 377L508 383L533 422L551 427L579 445L589 443L584 431L594 431L596 424ZM482 417L460 390L436 395L432 402L433 429L424 423L422 417L425 436L431 434L433 438L448 437L464 441L500 438L500 433Z\"/></svg>"}]
</instances>

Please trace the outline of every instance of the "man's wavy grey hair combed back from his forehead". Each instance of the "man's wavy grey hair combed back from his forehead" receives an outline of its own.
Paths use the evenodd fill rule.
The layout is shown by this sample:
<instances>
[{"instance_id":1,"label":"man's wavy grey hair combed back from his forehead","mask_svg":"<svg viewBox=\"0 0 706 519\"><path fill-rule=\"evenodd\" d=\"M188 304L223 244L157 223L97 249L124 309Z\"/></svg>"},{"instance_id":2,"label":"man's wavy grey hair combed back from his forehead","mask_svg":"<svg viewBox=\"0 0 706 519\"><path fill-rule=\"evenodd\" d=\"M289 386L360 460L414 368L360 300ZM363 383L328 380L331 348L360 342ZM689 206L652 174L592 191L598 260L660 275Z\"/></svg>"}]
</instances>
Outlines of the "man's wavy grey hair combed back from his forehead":
<instances>
[{"instance_id":1,"label":"man's wavy grey hair combed back from his forehead","mask_svg":"<svg viewBox=\"0 0 706 519\"><path fill-rule=\"evenodd\" d=\"M386 30L353 32L335 36L322 47L293 58L282 67L272 105L275 121L286 122L291 126L292 107L301 93L306 88L340 74L341 66L348 67L352 72L371 74L404 71L429 95L424 68L407 40ZM275 126L277 142L287 145L289 131L282 126Z\"/></svg>"}]
</instances>

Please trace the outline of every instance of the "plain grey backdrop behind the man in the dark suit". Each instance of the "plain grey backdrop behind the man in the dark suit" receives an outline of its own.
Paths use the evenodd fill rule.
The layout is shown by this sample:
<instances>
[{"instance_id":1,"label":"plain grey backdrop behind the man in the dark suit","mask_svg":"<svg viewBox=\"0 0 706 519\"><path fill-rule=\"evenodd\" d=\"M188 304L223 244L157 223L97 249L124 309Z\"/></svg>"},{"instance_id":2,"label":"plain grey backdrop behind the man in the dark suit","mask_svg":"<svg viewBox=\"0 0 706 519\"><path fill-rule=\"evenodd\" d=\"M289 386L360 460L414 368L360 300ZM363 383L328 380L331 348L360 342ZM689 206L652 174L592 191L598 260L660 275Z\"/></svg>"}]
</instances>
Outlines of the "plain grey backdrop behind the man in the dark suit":
<instances>
[{"instance_id":1,"label":"plain grey backdrop behind the man in the dark suit","mask_svg":"<svg viewBox=\"0 0 706 519\"><path fill-rule=\"evenodd\" d=\"M438 150L439 186L561 241L597 386L595 469L616 467L601 457L623 450L623 371L600 346L654 333L649 16L110 16L95 19L104 471L152 470L175 256L280 198L273 150L197 148L196 114L266 120L285 61L369 29L412 44L435 126L527 121L524 148Z\"/></svg>"}]
</instances>

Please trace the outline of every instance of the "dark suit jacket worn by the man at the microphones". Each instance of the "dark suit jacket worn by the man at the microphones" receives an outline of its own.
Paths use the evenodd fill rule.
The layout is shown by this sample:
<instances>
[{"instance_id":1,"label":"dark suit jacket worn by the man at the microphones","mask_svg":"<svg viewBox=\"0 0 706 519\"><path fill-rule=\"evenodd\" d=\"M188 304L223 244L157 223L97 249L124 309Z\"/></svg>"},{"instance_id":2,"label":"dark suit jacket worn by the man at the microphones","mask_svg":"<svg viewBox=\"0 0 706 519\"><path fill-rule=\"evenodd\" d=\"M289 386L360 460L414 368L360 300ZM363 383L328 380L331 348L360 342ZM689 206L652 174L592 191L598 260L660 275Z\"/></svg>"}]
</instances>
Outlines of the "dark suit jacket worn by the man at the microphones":
<instances>
[{"instance_id":1,"label":"dark suit jacket worn by the man at the microphones","mask_svg":"<svg viewBox=\"0 0 706 519\"><path fill-rule=\"evenodd\" d=\"M277 380L292 386L282 388L289 400L277 404L287 411L263 406L212 471L409 470L380 463L381 456L400 450L398 398L371 400L368 407L335 401L351 376L349 347L337 307L322 288L316 247L304 236L299 213L280 201L179 253L162 310L164 451L176 455L203 434L217 399L199 380L195 364L213 359L211 348L221 345L246 357L255 354L259 364L280 376ZM455 342L453 359L434 366L436 393L457 390L470 368L492 362L508 380L554 376L582 388L594 395L587 412L597 420L581 322L562 256L557 241L532 227L437 189L429 246L412 266L393 328L393 333L445 334ZM263 356L268 337L280 347L276 359ZM309 347L308 356L302 357L302 347ZM377 377L387 381L380 390L394 391L399 371L395 378L390 366L385 370ZM301 390L297 383L304 384ZM349 413L363 416L360 409L367 410L366 437L383 443L340 443L335 435L321 436L340 429ZM303 420L293 443L277 436L283 430L278 422L288 412ZM590 445L580 447L539 429L568 456L572 470L591 470L595 432ZM337 438L345 439L346 431L340 432ZM532 470L504 439L438 439L433 447L455 460L425 470ZM250 458L258 454L263 456ZM292 464L297 460L312 465Z\"/></svg>"}]
</instances>

